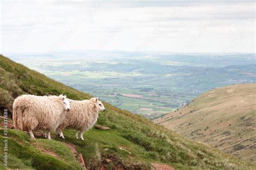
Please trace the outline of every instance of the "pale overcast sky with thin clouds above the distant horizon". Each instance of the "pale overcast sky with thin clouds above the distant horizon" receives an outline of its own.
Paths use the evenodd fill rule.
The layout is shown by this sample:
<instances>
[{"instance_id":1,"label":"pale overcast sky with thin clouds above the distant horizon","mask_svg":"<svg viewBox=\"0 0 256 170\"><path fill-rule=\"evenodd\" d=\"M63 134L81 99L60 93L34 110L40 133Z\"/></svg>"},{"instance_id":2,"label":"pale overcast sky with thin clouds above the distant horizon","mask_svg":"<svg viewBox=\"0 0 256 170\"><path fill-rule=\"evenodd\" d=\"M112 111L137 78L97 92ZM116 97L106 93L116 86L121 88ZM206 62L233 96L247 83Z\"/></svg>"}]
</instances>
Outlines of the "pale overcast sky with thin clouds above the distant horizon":
<instances>
[{"instance_id":1,"label":"pale overcast sky with thin clouds above the distant horizon","mask_svg":"<svg viewBox=\"0 0 256 170\"><path fill-rule=\"evenodd\" d=\"M255 53L255 2L3 1L1 53Z\"/></svg>"}]
</instances>

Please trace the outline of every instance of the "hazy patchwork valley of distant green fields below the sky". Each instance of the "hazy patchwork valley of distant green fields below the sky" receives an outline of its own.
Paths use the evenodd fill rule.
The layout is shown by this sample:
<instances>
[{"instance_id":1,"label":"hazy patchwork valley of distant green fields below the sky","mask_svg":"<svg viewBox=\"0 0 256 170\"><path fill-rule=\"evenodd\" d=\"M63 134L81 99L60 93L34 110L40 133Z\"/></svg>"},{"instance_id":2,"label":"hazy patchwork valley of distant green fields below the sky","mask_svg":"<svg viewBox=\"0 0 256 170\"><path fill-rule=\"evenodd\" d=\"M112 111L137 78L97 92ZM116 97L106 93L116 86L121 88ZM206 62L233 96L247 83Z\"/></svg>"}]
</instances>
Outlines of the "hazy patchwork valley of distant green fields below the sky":
<instances>
[{"instance_id":1,"label":"hazy patchwork valley of distant green fields below the sky","mask_svg":"<svg viewBox=\"0 0 256 170\"><path fill-rule=\"evenodd\" d=\"M204 91L255 82L254 54L138 53L131 57L131 52L89 51L9 56L54 80L150 119L186 105Z\"/></svg>"}]
</instances>

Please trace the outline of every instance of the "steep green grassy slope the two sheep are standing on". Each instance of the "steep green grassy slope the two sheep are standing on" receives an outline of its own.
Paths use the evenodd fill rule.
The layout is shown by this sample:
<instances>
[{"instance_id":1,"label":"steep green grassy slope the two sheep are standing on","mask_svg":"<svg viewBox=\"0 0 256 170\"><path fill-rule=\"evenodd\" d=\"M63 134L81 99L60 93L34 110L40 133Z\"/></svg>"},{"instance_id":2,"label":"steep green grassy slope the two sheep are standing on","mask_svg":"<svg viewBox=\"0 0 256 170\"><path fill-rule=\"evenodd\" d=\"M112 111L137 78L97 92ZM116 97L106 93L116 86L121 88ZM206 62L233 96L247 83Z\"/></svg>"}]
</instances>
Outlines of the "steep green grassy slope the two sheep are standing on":
<instances>
[{"instance_id":1,"label":"steep green grassy slope the two sheep are standing on","mask_svg":"<svg viewBox=\"0 0 256 170\"><path fill-rule=\"evenodd\" d=\"M0 75L1 114L4 108L8 108L11 113L12 101L21 94L65 94L75 100L91 97L2 55ZM65 140L56 134L52 135L52 140L38 136L36 140L30 140L26 132L9 129L9 168L79 169L81 167L73 150L83 155L87 169L97 169L99 166L107 169L150 169L152 163L178 169L255 168L213 147L180 137L142 116L133 115L107 103L104 105L106 111L99 115L97 124L111 129L103 131L93 128L84 134L84 141L74 138L74 130L64 130ZM2 126L0 132L0 140L3 141ZM0 147L0 157L3 158L3 142ZM107 162L106 159L111 161ZM3 167L3 160L0 162L0 167Z\"/></svg>"}]
</instances>

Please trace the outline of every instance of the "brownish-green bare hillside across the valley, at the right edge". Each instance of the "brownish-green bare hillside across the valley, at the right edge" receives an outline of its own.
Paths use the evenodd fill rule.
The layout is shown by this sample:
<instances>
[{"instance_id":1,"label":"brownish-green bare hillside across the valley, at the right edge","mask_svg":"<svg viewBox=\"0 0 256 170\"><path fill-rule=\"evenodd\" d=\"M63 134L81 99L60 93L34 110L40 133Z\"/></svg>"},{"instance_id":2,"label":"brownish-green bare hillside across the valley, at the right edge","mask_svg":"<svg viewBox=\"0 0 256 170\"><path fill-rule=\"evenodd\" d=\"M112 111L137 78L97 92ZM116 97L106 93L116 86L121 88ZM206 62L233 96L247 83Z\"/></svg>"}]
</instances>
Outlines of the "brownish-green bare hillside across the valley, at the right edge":
<instances>
[{"instance_id":1,"label":"brownish-green bare hillside across the valley, at the right edge","mask_svg":"<svg viewBox=\"0 0 256 170\"><path fill-rule=\"evenodd\" d=\"M256 83L214 89L154 122L256 165L255 93Z\"/></svg>"}]
</instances>

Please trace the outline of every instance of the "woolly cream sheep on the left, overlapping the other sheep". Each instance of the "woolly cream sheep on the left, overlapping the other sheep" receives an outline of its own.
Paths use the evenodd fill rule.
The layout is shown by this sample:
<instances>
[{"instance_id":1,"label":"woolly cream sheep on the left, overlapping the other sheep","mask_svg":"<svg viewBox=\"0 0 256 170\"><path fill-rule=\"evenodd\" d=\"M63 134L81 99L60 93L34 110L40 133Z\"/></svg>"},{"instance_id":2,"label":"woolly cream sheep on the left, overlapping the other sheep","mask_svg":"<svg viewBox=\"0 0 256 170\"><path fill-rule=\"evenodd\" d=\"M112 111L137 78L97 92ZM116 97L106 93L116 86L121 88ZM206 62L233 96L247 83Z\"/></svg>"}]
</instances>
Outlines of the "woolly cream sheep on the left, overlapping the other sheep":
<instances>
[{"instance_id":1,"label":"woolly cream sheep on the left, overlapping the other sheep","mask_svg":"<svg viewBox=\"0 0 256 170\"><path fill-rule=\"evenodd\" d=\"M32 131L56 131L65 118L65 111L70 110L70 102L66 96L22 95L13 104L13 120L16 129L29 131L30 138L36 139Z\"/></svg>"}]
</instances>

